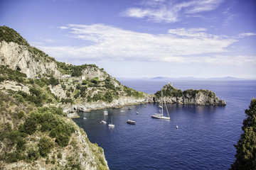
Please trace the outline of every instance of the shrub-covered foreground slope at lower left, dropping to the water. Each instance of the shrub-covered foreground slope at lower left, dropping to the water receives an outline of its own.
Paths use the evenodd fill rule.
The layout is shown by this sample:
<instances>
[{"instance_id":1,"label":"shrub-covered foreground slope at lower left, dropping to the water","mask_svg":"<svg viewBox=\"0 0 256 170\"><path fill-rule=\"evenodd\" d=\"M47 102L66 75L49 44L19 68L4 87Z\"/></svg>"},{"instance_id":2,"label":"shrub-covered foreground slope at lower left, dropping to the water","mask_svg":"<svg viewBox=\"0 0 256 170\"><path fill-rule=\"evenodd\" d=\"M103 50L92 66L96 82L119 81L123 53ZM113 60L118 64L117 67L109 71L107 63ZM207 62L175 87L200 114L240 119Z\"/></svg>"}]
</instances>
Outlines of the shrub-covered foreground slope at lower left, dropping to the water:
<instances>
[{"instance_id":1,"label":"shrub-covered foreground slope at lower left, dropping to the water","mask_svg":"<svg viewBox=\"0 0 256 170\"><path fill-rule=\"evenodd\" d=\"M103 149L61 108L0 91L0 169L108 169Z\"/></svg>"}]
</instances>

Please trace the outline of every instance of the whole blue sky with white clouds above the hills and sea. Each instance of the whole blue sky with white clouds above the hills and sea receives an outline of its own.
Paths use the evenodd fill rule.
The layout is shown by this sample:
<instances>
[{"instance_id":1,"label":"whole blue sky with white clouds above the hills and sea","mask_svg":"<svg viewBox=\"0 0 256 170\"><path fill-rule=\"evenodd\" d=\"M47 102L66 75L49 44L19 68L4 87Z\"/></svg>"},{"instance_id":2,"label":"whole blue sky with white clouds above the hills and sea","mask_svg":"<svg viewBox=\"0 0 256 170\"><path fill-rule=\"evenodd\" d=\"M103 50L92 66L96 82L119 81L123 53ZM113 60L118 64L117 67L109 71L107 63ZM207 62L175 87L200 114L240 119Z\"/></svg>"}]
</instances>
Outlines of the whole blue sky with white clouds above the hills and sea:
<instances>
[{"instance_id":1,"label":"whole blue sky with white clouds above the hills and sea","mask_svg":"<svg viewBox=\"0 0 256 170\"><path fill-rule=\"evenodd\" d=\"M0 25L112 77L256 79L255 0L0 0Z\"/></svg>"}]
</instances>

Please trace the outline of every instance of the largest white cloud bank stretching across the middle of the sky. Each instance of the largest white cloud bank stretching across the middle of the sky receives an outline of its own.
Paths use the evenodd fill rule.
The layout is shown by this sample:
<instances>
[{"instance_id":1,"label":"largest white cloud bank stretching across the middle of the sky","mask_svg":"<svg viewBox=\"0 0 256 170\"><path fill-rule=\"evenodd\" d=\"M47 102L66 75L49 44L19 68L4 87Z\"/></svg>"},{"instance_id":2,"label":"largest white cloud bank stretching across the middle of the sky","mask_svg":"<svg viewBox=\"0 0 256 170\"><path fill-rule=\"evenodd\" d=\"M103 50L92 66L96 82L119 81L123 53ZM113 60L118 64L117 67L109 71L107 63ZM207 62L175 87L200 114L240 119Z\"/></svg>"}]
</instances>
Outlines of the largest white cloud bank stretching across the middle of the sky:
<instances>
[{"instance_id":1,"label":"largest white cloud bank stretching across the middle of the sky","mask_svg":"<svg viewBox=\"0 0 256 170\"><path fill-rule=\"evenodd\" d=\"M67 28L70 36L89 41L90 45L39 48L58 60L197 62L201 57L192 58L191 55L226 52L226 47L236 42L231 38L208 34L205 28L171 29L169 33L159 35L137 33L102 24L70 24Z\"/></svg>"}]
</instances>

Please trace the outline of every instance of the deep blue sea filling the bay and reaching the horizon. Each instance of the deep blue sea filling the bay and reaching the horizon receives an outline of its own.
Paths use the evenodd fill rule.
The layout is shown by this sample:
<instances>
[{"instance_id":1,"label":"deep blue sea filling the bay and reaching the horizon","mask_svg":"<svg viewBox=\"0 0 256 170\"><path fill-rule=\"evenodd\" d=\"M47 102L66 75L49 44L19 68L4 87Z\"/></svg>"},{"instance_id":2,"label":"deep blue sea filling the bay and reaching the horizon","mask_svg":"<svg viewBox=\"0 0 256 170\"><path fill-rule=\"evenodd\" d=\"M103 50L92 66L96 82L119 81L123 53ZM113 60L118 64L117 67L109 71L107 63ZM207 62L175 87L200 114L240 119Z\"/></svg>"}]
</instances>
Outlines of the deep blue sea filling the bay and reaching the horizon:
<instances>
[{"instance_id":1,"label":"deep blue sea filling the bay and reaching the horizon","mask_svg":"<svg viewBox=\"0 0 256 170\"><path fill-rule=\"evenodd\" d=\"M122 81L138 91L154 94L167 82ZM175 81L174 87L210 89L227 106L169 104L171 120L156 120L157 104L108 108L107 124L101 124L103 110L80 113L75 122L91 142L105 150L110 169L228 169L235 160L235 145L242 132L245 109L256 97L256 81ZM132 110L127 110L131 107ZM136 114L139 112L139 115ZM82 117L86 117L83 120ZM136 125L126 123L128 119ZM178 125L178 129L176 129Z\"/></svg>"}]
</instances>

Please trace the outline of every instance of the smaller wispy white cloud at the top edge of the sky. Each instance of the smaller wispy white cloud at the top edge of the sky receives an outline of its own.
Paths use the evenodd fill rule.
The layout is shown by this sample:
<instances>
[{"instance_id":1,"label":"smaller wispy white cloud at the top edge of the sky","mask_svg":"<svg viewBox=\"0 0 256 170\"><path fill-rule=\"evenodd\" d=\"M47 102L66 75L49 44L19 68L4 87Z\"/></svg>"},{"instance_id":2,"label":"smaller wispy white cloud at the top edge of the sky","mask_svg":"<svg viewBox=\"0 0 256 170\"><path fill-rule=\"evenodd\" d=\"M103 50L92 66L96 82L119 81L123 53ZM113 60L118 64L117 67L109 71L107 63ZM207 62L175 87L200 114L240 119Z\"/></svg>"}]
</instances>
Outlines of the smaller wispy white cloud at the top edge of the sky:
<instances>
[{"instance_id":1,"label":"smaller wispy white cloud at the top edge of the sky","mask_svg":"<svg viewBox=\"0 0 256 170\"><path fill-rule=\"evenodd\" d=\"M127 8L122 16L147 18L149 21L175 23L180 20L181 13L200 13L213 11L223 0L191 0L174 3L174 1L143 1L141 8Z\"/></svg>"}]
</instances>

